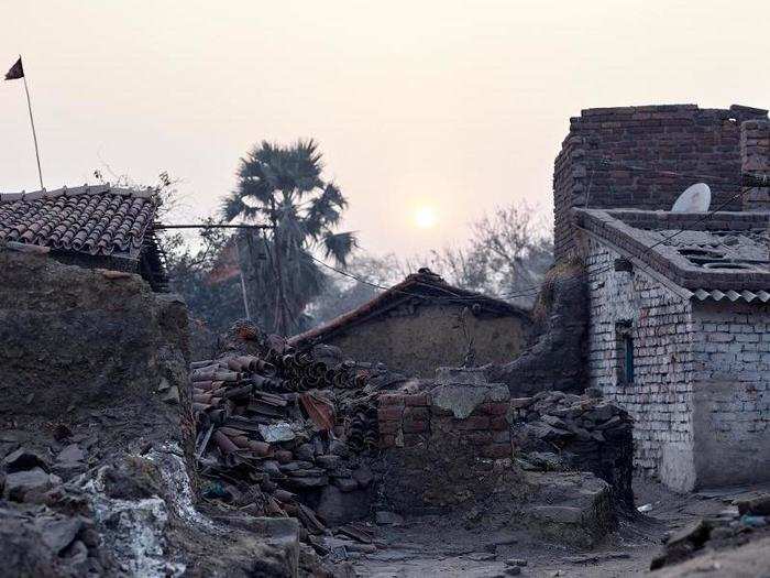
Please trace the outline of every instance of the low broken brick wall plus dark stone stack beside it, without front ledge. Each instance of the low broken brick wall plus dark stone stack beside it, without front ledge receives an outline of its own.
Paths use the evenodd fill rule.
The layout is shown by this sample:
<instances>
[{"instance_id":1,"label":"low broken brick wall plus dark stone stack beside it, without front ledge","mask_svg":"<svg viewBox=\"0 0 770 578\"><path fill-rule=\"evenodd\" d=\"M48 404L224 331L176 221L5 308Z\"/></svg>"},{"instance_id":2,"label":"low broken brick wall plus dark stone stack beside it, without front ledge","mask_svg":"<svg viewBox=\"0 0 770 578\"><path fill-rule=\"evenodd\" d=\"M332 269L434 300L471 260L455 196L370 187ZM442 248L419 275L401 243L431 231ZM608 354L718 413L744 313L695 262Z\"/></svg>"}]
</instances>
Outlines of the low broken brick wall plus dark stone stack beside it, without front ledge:
<instances>
[{"instance_id":1,"label":"low broken brick wall plus dark stone stack beside it, without front ledge","mask_svg":"<svg viewBox=\"0 0 770 578\"><path fill-rule=\"evenodd\" d=\"M429 391L381 395L378 429L389 464L384 492L403 511L452 506L516 483L513 462L591 472L617 505L634 506L632 419L601 399L558 391L512 399L503 384L450 379Z\"/></svg>"}]
</instances>

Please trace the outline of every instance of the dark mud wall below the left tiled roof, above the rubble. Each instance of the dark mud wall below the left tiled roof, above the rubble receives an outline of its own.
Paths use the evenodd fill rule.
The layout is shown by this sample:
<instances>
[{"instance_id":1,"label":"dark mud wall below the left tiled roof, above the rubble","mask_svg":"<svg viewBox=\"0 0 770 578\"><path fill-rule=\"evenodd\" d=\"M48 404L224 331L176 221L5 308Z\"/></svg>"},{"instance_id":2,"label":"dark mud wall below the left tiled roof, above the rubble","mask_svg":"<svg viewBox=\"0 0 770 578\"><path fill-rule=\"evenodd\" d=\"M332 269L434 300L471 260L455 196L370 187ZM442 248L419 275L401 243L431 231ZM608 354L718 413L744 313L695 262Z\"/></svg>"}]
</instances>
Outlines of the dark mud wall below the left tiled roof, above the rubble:
<instances>
[{"instance_id":1,"label":"dark mud wall below the left tiled roof, above the rubble","mask_svg":"<svg viewBox=\"0 0 770 578\"><path fill-rule=\"evenodd\" d=\"M142 436L190 451L184 302L135 274L10 246L0 247L0 419L36 427L109 418L106 444Z\"/></svg>"}]
</instances>

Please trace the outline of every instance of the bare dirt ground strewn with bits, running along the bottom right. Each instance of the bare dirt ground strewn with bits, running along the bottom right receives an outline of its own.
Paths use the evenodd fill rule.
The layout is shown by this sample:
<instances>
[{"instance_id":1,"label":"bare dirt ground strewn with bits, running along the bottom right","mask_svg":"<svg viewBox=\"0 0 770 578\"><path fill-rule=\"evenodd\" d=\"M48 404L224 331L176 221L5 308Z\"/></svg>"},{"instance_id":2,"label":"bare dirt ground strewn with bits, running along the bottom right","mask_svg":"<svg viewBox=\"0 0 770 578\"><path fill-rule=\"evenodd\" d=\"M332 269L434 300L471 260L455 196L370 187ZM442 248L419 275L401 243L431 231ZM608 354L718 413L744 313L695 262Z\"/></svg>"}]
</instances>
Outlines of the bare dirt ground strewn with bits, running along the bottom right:
<instances>
[{"instance_id":1,"label":"bare dirt ground strewn with bits, running along the bottom right","mask_svg":"<svg viewBox=\"0 0 770 578\"><path fill-rule=\"evenodd\" d=\"M512 566L506 561L513 558L526 564L520 566L520 576L642 576L650 574L650 560L660 552L667 533L704 515L716 515L729 508L734 498L757 489L734 488L682 495L656 482L637 479L637 505L651 504L651 509L646 514L623 517L618 530L588 552L534 539L524 531L481 525L464 527L469 524L450 516L407 516L400 526L373 526L377 552L349 556L358 575L374 578L509 576L518 571L506 574ZM758 552L762 552L761 548ZM694 571L701 574L705 568L714 571L714 576L763 576L734 575L724 564L715 561L733 553L735 550L717 553L705 567L694 565L701 568ZM754 566L747 567L750 571ZM669 569L664 571L667 576L679 576L669 574Z\"/></svg>"}]
</instances>

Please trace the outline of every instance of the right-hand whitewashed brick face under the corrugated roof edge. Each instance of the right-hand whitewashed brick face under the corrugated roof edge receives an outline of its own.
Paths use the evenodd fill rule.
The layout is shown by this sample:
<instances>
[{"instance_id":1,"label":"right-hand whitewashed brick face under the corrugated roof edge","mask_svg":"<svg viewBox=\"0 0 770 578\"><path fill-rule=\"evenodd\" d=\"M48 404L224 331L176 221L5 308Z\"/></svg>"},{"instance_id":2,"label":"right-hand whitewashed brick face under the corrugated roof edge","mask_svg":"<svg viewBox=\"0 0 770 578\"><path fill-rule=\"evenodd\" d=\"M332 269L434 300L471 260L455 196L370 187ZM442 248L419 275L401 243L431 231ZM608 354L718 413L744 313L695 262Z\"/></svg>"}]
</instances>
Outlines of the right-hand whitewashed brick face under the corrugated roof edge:
<instances>
[{"instance_id":1,"label":"right-hand whitewashed brick face under the corrugated roof edge","mask_svg":"<svg viewBox=\"0 0 770 578\"><path fill-rule=\"evenodd\" d=\"M694 456L702 486L770 479L770 305L696 303Z\"/></svg>"}]
</instances>

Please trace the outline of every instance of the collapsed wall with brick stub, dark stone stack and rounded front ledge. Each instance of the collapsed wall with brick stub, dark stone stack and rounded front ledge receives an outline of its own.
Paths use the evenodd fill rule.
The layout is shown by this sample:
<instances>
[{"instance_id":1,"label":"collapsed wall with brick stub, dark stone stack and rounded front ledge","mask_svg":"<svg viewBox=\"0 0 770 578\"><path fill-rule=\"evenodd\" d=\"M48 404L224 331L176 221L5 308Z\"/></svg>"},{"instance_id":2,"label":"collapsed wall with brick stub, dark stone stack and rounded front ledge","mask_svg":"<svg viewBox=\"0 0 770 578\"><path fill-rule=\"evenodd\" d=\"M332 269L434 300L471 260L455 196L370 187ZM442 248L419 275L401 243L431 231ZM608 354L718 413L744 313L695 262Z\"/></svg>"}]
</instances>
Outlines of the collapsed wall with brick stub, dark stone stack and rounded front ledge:
<instances>
[{"instance_id":1,"label":"collapsed wall with brick stub, dark stone stack and rounded front ledge","mask_svg":"<svg viewBox=\"0 0 770 578\"><path fill-rule=\"evenodd\" d=\"M479 512L512 528L591 546L629 508L631 423L601 400L561 392L512 399L482 370L380 396L375 472L397 512Z\"/></svg>"}]
</instances>

